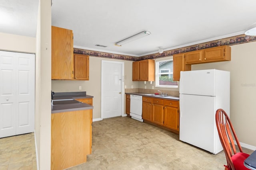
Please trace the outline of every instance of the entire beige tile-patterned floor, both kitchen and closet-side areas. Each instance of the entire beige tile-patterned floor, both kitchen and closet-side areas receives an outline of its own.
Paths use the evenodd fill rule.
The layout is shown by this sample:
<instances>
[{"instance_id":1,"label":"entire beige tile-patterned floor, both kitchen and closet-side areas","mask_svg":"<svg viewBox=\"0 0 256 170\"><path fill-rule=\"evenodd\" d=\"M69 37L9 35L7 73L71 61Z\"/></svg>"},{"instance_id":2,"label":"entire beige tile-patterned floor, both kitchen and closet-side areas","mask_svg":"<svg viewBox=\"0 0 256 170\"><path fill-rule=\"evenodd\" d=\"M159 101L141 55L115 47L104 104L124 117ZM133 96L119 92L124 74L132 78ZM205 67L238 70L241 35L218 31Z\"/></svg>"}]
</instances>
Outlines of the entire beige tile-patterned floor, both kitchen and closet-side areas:
<instances>
[{"instance_id":1,"label":"entire beige tile-patterned floor, both kitchen and closet-side areas","mask_svg":"<svg viewBox=\"0 0 256 170\"><path fill-rule=\"evenodd\" d=\"M68 170L224 170L223 164L223 151L214 155L164 129L117 117L92 123L92 154ZM0 170L36 170L34 133L0 139Z\"/></svg>"}]
</instances>

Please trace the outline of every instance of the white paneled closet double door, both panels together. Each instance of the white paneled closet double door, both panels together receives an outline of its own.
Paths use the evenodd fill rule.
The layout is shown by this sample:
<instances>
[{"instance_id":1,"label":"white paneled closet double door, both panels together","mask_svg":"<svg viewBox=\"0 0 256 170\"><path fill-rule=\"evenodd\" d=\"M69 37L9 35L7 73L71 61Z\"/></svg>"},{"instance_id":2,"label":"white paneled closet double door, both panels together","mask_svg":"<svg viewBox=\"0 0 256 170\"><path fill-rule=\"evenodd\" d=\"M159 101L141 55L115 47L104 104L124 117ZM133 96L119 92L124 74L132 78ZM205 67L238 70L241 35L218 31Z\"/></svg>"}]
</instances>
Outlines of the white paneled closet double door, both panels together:
<instances>
[{"instance_id":1,"label":"white paneled closet double door, both panels together","mask_svg":"<svg viewBox=\"0 0 256 170\"><path fill-rule=\"evenodd\" d=\"M0 51L0 137L34 132L35 55Z\"/></svg>"}]
</instances>

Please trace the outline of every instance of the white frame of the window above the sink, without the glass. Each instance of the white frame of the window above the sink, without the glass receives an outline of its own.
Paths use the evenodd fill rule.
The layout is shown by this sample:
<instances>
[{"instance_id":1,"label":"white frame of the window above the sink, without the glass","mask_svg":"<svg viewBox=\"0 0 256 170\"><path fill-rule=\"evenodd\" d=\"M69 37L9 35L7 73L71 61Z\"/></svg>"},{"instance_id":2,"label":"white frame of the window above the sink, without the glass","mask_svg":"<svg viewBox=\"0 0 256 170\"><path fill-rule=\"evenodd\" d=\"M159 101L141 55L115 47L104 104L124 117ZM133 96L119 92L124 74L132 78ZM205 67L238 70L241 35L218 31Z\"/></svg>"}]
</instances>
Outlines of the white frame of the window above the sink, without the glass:
<instances>
[{"instance_id":1,"label":"white frame of the window above the sink, without the glass","mask_svg":"<svg viewBox=\"0 0 256 170\"><path fill-rule=\"evenodd\" d=\"M163 87L163 88L178 88L178 82L177 82L177 85L159 85L159 63L162 63L162 62L166 62L166 61L173 61L173 59L168 59L168 60L162 60L162 61L156 61L156 65L155 65L155 67L156 67L156 77L155 77L155 80L156 80L156 82L155 82L155 86L156 87ZM170 70L170 69L162 69L162 70ZM164 72L164 73L162 73L162 74L166 74L166 72ZM170 72L167 72L167 74L169 74L169 77L170 77L170 74L172 74L172 76L173 76L173 71L172 70L170 70Z\"/></svg>"}]
</instances>

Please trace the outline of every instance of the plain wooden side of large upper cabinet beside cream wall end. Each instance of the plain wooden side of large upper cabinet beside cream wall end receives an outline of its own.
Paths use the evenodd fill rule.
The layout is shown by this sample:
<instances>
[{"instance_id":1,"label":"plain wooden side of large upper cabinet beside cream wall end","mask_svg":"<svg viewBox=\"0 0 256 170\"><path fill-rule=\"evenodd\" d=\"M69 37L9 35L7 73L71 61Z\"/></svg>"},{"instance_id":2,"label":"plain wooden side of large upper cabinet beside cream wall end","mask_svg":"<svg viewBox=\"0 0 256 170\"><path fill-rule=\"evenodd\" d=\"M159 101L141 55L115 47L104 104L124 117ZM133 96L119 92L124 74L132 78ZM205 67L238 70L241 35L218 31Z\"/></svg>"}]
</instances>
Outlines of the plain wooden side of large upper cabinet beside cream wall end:
<instances>
[{"instance_id":1,"label":"plain wooden side of large upper cabinet beside cream wall end","mask_svg":"<svg viewBox=\"0 0 256 170\"><path fill-rule=\"evenodd\" d=\"M73 78L73 31L52 26L52 80Z\"/></svg>"}]
</instances>

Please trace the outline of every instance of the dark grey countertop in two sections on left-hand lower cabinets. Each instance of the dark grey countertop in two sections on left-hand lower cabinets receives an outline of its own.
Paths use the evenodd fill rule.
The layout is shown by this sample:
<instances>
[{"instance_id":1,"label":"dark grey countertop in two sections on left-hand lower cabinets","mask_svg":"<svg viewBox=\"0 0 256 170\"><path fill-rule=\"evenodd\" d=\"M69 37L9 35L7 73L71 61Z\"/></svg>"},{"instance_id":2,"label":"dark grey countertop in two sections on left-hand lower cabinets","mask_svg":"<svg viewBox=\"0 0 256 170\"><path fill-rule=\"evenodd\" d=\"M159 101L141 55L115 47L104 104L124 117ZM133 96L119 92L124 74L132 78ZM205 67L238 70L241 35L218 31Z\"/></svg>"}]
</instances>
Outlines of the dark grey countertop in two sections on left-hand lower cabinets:
<instances>
[{"instance_id":1,"label":"dark grey countertop in two sections on left-hand lower cabinets","mask_svg":"<svg viewBox=\"0 0 256 170\"><path fill-rule=\"evenodd\" d=\"M80 99L80 98L93 98L93 96L86 95L86 92L65 92L65 93L55 93L53 100L63 100L63 99ZM93 109L93 106L86 103L77 104L59 104L52 106L52 113L60 113L66 111L77 111L77 110L87 110Z\"/></svg>"}]
</instances>

